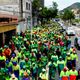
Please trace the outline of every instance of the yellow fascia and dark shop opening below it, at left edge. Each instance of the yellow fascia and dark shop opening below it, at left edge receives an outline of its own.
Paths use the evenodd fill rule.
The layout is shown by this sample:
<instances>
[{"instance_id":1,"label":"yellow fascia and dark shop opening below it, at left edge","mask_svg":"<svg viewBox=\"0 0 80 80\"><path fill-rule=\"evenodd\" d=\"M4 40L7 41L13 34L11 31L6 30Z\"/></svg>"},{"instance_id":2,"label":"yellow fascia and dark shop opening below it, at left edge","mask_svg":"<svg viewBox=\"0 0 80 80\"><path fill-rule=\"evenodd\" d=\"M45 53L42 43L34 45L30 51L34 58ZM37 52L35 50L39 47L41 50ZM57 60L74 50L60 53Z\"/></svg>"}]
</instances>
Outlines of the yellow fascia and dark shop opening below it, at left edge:
<instances>
[{"instance_id":1,"label":"yellow fascia and dark shop opening below it, at left edge","mask_svg":"<svg viewBox=\"0 0 80 80\"><path fill-rule=\"evenodd\" d=\"M0 26L0 46L8 44L14 34L16 34L16 25Z\"/></svg>"}]
</instances>

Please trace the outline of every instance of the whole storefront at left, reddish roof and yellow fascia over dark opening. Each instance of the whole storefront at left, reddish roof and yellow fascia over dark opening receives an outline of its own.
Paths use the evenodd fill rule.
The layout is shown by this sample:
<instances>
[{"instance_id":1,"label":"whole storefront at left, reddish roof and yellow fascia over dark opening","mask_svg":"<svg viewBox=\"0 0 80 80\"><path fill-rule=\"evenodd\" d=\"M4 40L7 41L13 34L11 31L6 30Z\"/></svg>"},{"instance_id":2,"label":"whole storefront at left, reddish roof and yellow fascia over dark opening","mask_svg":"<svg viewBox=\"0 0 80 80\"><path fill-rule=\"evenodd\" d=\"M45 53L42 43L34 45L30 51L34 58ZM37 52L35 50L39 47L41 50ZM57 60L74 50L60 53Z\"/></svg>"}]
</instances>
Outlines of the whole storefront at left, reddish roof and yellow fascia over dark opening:
<instances>
[{"instance_id":1,"label":"whole storefront at left, reddish roof and yellow fascia over dark opening","mask_svg":"<svg viewBox=\"0 0 80 80\"><path fill-rule=\"evenodd\" d=\"M17 24L16 16L0 14L0 47L8 44L12 35L16 34Z\"/></svg>"}]
</instances>

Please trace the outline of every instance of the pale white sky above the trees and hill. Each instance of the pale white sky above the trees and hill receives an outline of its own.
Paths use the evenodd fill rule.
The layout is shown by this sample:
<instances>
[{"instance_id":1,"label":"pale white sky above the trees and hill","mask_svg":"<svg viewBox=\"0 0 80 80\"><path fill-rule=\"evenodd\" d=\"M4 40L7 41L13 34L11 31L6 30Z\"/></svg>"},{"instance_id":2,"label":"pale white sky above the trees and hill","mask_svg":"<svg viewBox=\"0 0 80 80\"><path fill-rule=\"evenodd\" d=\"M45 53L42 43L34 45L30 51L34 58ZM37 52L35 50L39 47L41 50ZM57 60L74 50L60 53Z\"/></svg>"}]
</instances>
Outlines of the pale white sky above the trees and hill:
<instances>
[{"instance_id":1,"label":"pale white sky above the trees and hill","mask_svg":"<svg viewBox=\"0 0 80 80\"><path fill-rule=\"evenodd\" d=\"M53 1L57 2L59 10L63 10L75 2L80 2L80 0L45 0L45 6L50 7Z\"/></svg>"}]
</instances>

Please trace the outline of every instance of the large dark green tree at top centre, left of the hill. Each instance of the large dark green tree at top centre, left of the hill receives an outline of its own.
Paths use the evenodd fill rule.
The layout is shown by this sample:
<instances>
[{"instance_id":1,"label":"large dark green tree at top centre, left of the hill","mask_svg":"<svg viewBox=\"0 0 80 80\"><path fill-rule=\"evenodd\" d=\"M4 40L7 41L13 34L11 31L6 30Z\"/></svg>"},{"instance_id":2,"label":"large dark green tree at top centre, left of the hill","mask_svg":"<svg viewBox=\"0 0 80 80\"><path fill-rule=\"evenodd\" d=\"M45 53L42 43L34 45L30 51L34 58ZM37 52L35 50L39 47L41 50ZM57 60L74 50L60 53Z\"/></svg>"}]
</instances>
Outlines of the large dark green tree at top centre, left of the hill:
<instances>
[{"instance_id":1,"label":"large dark green tree at top centre, left of the hill","mask_svg":"<svg viewBox=\"0 0 80 80\"><path fill-rule=\"evenodd\" d=\"M57 6L58 6L57 3L53 2L52 7L50 7L50 8L47 8L47 7L42 8L39 11L39 19L41 20L41 22L43 22L43 19L48 21L48 20L50 20L52 18L55 18L57 16L57 12L58 12Z\"/></svg>"}]
</instances>

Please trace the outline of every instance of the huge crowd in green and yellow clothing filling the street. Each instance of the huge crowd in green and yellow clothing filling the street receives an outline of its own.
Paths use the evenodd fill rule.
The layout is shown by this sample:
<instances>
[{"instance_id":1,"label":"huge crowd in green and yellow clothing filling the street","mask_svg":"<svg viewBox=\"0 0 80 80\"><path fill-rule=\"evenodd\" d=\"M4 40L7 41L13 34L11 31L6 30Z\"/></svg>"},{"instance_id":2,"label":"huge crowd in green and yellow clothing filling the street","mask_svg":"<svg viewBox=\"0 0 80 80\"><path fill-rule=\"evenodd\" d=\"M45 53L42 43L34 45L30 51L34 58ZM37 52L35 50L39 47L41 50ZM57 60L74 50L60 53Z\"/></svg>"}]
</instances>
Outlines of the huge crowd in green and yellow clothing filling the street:
<instances>
[{"instance_id":1,"label":"huge crowd in green and yellow clothing filling the street","mask_svg":"<svg viewBox=\"0 0 80 80\"><path fill-rule=\"evenodd\" d=\"M80 79L78 56L70 37L51 28L34 28L12 36L0 48L0 80Z\"/></svg>"}]
</instances>

